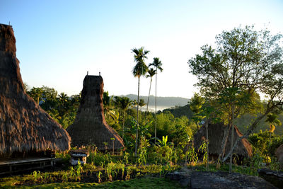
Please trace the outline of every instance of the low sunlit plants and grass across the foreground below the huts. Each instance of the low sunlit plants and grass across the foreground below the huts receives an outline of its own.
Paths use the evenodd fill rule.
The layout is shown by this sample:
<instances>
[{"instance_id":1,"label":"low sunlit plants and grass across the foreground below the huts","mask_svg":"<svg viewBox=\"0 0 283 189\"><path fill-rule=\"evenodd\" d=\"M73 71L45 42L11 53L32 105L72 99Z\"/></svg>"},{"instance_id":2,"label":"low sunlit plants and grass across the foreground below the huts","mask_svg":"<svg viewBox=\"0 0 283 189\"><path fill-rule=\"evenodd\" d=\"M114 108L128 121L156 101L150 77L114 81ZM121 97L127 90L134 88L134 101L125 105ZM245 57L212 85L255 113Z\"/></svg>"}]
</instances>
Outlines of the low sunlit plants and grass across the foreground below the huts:
<instances>
[{"instance_id":1,"label":"low sunlit plants and grass across the foreground below the huts","mask_svg":"<svg viewBox=\"0 0 283 189\"><path fill-rule=\"evenodd\" d=\"M187 167L194 171L229 171L229 165L217 161L209 161L207 167L207 154L205 153L205 142L200 149L190 147L187 153L178 152L173 146L166 142L166 137L158 142L156 146L139 147L139 156L134 156L134 151L129 154L127 151L120 151L120 154L112 155L111 152L102 153L96 148L88 148L90 156L87 164L68 166L70 156L67 151L57 153L66 166L61 171L40 172L22 176L11 176L0 178L0 188L46 188L54 187L146 187L151 181L153 187L162 188L163 185L171 186L175 182L164 180L166 173L176 171L187 161ZM199 156L198 152L202 152ZM180 154L179 154L180 153ZM179 158L180 157L180 158ZM233 171L248 175L258 176L258 168L268 167L272 170L280 170L275 159L262 159L260 154L255 154L252 159L245 159L242 165L233 161ZM132 181L132 179L134 179ZM114 183L109 183L114 182ZM105 183L103 185L99 184ZM157 186L159 185L159 186Z\"/></svg>"}]
</instances>

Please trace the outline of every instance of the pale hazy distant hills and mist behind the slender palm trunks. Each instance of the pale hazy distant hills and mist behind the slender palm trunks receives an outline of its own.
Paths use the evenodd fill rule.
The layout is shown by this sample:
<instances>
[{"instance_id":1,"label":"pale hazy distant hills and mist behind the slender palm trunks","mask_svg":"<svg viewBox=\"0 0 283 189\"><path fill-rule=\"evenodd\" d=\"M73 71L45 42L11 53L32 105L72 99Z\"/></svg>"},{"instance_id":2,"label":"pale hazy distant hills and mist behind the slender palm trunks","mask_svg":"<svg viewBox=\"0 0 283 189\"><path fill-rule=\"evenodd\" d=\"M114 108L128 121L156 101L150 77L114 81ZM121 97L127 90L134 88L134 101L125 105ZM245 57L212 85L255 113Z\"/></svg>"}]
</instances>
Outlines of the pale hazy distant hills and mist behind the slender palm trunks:
<instances>
[{"instance_id":1,"label":"pale hazy distant hills and mist behind the slender palm trunks","mask_svg":"<svg viewBox=\"0 0 283 189\"><path fill-rule=\"evenodd\" d=\"M137 95L135 94L128 94L125 96L131 99L132 101L134 100L137 101ZM139 98L144 99L144 102L147 103L148 96L139 96ZM163 110L166 108L175 107L176 105L177 106L187 105L187 101L189 101L189 98L157 96L157 110ZM155 108L155 96L150 96L149 97L149 110L154 110L154 108Z\"/></svg>"}]
</instances>

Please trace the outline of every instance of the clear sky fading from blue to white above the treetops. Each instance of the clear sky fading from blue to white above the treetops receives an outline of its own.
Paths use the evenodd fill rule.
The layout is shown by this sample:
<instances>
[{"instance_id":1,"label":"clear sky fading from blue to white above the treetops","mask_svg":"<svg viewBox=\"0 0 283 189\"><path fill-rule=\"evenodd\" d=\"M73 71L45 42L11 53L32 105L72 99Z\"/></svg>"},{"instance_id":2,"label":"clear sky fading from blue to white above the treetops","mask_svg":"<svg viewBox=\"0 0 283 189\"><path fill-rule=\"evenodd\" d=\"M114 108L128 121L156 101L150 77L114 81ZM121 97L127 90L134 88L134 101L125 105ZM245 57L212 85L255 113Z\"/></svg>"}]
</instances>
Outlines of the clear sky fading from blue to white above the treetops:
<instances>
[{"instance_id":1,"label":"clear sky fading from blue to white above the treetops","mask_svg":"<svg viewBox=\"0 0 283 189\"><path fill-rule=\"evenodd\" d=\"M239 25L283 31L283 1L23 1L0 0L0 23L11 23L23 81L69 96L86 71L101 75L111 95L137 93L131 49L159 57L158 96L190 98L197 89L187 60L215 35ZM154 81L155 82L155 81ZM154 84L154 83L153 83ZM148 95L149 79L141 79ZM154 93L152 88L151 93Z\"/></svg>"}]
</instances>

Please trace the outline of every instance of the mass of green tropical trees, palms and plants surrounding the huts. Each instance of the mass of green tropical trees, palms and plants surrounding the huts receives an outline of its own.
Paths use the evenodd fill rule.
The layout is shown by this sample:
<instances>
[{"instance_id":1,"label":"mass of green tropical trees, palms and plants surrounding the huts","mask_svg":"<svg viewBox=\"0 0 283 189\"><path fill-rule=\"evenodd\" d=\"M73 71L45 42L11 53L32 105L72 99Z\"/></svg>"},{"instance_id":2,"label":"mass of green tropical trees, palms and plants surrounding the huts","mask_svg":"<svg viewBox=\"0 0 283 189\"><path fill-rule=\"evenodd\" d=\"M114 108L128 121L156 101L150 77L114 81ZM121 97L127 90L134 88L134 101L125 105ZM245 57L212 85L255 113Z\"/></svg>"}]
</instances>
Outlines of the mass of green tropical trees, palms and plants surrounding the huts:
<instances>
[{"instance_id":1,"label":"mass of green tropical trees, palms and plants surrounding the huts","mask_svg":"<svg viewBox=\"0 0 283 189\"><path fill-rule=\"evenodd\" d=\"M86 165L66 168L59 173L35 171L26 181L37 184L74 182L84 181L85 176L94 176L97 183L127 181L147 174L164 176L184 162L197 170L204 170L205 164L209 171L231 171L233 168L233 171L251 175L258 175L257 169L263 163L279 170L275 149L283 144L282 127L279 127L283 121L281 39L282 35L271 35L268 30L257 31L253 26L217 35L215 47L204 45L200 55L188 61L190 72L197 76L200 93L195 93L185 106L154 113L148 111L151 83L153 76L157 80L158 71L163 70L162 63L155 57L148 68L145 60L149 51L144 47L132 49L135 64L132 74L138 79L137 100L110 96L108 91L103 93L105 120L122 136L124 151L114 154L105 149L102 153L96 147L86 147L90 152ZM139 98L140 79L145 74L151 79L147 103ZM25 90L64 128L74 122L80 95L58 94L47 86L28 89L26 84ZM261 96L265 96L264 100ZM142 109L144 105L146 111ZM217 161L209 159L208 134L200 148L193 146L193 135L200 127L208 128L208 122L219 121L228 125L226 130L237 125L245 132L243 137L252 144L253 157L243 159L244 167L237 166L232 159L238 140L236 144L231 142L231 151L226 156L219 154ZM224 134L221 151L226 147L227 137L228 134ZM64 162L69 161L65 152L56 156ZM230 160L229 168L224 163L227 159Z\"/></svg>"}]
</instances>

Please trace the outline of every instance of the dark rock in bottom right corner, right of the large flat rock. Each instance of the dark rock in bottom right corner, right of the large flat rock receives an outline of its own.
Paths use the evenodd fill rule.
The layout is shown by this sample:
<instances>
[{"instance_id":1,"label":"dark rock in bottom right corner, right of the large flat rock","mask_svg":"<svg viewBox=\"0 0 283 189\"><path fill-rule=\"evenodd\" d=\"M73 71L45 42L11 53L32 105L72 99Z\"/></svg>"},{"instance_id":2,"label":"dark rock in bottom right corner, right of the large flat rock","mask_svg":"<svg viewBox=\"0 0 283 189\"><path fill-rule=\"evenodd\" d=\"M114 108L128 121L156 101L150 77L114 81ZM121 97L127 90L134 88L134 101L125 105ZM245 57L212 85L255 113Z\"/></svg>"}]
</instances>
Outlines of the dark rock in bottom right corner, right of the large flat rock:
<instances>
[{"instance_id":1,"label":"dark rock in bottom right corner, right of the large flat rock","mask_svg":"<svg viewBox=\"0 0 283 189\"><path fill-rule=\"evenodd\" d=\"M283 188L283 171L272 171L268 168L260 168L258 174L278 188Z\"/></svg>"}]
</instances>

